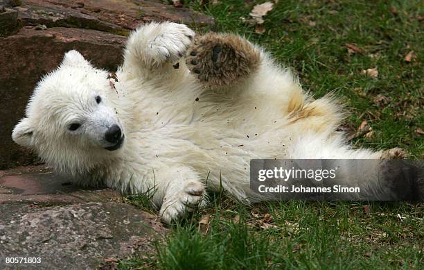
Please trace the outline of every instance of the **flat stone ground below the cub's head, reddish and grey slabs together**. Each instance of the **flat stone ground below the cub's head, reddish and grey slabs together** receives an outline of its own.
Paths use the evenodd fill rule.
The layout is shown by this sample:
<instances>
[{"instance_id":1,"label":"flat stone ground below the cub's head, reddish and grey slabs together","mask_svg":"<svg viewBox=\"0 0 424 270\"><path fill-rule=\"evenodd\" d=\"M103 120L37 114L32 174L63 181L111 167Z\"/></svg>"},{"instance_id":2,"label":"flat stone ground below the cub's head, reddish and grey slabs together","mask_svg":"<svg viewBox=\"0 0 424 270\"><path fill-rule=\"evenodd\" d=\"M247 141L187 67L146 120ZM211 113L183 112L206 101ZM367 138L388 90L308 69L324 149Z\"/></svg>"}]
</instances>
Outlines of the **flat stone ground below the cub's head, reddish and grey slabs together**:
<instances>
[{"instance_id":1,"label":"flat stone ground below the cub's head, reddish and grey slabs together","mask_svg":"<svg viewBox=\"0 0 424 270\"><path fill-rule=\"evenodd\" d=\"M0 269L114 267L167 229L110 189L81 189L45 167L0 171ZM6 264L6 258L40 258Z\"/></svg>"}]
</instances>

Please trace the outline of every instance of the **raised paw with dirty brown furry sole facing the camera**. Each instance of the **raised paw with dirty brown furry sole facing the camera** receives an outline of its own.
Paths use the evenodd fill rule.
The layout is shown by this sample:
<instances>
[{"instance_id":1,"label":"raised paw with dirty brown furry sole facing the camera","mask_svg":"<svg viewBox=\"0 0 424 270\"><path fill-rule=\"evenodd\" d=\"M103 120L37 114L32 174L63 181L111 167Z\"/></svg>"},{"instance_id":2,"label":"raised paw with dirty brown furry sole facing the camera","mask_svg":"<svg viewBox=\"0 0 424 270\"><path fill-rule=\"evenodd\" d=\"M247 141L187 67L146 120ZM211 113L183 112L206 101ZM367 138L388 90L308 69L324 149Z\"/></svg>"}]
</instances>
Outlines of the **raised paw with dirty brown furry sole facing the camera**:
<instances>
[{"instance_id":1,"label":"raised paw with dirty brown furry sole facing the camera","mask_svg":"<svg viewBox=\"0 0 424 270\"><path fill-rule=\"evenodd\" d=\"M230 85L249 76L260 62L260 53L238 35L209 33L198 37L188 50L186 65L208 85Z\"/></svg>"}]
</instances>

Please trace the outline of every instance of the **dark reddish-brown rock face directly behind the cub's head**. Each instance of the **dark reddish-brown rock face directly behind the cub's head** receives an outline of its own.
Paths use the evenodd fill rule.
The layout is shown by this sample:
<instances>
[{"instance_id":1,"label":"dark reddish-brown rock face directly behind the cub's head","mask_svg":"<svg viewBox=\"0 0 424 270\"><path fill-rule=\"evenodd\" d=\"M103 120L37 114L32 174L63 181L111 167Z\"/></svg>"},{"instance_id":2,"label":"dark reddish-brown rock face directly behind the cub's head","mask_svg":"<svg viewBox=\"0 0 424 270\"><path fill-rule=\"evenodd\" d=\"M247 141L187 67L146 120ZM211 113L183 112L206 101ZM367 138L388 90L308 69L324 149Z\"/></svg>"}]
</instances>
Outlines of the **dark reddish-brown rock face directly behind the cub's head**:
<instances>
[{"instance_id":1,"label":"dark reddish-brown rock face directly behind the cub's head","mask_svg":"<svg viewBox=\"0 0 424 270\"><path fill-rule=\"evenodd\" d=\"M12 128L24 117L35 84L57 67L66 51L76 49L94 65L114 70L122 60L126 37L78 28L21 28L0 37L0 169L33 162L12 142Z\"/></svg>"}]
</instances>

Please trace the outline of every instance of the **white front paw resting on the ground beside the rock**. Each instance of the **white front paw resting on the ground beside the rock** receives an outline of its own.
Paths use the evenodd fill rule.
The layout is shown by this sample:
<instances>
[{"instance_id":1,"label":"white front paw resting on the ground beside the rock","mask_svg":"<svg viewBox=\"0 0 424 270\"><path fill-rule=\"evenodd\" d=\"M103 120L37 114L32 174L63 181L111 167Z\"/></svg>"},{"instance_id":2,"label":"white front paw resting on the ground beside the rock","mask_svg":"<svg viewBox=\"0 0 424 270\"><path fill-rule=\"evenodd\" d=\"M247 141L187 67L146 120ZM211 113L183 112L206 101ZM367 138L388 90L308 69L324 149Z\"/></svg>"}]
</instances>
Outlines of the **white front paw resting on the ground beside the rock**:
<instances>
[{"instance_id":1,"label":"white front paw resting on the ground beside the rock","mask_svg":"<svg viewBox=\"0 0 424 270\"><path fill-rule=\"evenodd\" d=\"M204 185L200 182L190 182L173 192L173 188L166 192L164 203L161 206L160 217L164 223L171 223L181 219L189 212L193 212L200 205L206 203Z\"/></svg>"}]
</instances>

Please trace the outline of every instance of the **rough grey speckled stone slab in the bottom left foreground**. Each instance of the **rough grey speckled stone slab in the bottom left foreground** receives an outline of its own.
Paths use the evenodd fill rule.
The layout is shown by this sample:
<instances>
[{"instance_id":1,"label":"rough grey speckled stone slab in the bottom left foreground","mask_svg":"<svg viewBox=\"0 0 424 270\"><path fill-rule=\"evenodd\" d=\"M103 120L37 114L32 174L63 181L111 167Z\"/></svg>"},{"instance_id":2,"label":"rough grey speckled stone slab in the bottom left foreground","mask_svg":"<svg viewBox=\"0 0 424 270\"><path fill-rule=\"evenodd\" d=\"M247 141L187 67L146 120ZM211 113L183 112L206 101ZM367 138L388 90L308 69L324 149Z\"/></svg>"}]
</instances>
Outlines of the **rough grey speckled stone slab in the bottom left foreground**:
<instances>
[{"instance_id":1,"label":"rough grey speckled stone slab in the bottom left foreground","mask_svg":"<svg viewBox=\"0 0 424 270\"><path fill-rule=\"evenodd\" d=\"M0 258L39 258L35 264L3 259L0 269L96 269L104 258L152 251L166 231L156 216L124 203L0 204Z\"/></svg>"}]
</instances>

